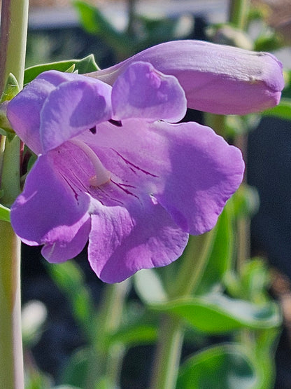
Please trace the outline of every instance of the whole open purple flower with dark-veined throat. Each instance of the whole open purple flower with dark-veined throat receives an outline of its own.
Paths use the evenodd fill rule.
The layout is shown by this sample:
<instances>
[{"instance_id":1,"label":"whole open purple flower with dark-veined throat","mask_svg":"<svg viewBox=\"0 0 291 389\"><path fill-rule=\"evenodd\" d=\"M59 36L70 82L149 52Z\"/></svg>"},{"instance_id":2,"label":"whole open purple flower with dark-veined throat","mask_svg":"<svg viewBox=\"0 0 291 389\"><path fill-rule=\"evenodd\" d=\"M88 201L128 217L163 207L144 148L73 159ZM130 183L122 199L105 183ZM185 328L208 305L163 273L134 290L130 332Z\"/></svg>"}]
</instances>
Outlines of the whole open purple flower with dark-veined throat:
<instances>
[{"instance_id":1,"label":"whole open purple flower with dark-veined throat","mask_svg":"<svg viewBox=\"0 0 291 389\"><path fill-rule=\"evenodd\" d=\"M228 81L226 81L228 85ZM15 132L38 159L11 209L15 232L57 263L89 239L106 282L176 260L188 234L209 231L241 183L241 152L211 128L170 124L187 100L148 62L113 87L46 71L8 104Z\"/></svg>"}]
</instances>

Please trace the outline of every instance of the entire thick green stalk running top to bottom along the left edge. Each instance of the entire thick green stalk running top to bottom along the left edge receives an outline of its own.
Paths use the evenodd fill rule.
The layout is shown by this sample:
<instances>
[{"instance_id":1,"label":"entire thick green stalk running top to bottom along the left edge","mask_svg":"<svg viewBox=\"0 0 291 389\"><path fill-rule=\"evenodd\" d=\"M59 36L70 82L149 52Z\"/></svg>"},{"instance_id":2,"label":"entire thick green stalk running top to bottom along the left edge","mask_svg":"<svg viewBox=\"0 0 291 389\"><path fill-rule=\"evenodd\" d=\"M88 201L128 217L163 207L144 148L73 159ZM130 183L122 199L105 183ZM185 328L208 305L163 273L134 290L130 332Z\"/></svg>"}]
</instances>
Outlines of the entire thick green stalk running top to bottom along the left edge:
<instances>
[{"instance_id":1,"label":"entire thick green stalk running top to bottom along the left edge","mask_svg":"<svg viewBox=\"0 0 291 389\"><path fill-rule=\"evenodd\" d=\"M13 73L20 88L24 79L28 0L2 0L0 36L0 93ZM10 205L20 191L20 140L1 137L1 202ZM20 240L7 221L0 221L0 385L24 388L21 310Z\"/></svg>"}]
</instances>

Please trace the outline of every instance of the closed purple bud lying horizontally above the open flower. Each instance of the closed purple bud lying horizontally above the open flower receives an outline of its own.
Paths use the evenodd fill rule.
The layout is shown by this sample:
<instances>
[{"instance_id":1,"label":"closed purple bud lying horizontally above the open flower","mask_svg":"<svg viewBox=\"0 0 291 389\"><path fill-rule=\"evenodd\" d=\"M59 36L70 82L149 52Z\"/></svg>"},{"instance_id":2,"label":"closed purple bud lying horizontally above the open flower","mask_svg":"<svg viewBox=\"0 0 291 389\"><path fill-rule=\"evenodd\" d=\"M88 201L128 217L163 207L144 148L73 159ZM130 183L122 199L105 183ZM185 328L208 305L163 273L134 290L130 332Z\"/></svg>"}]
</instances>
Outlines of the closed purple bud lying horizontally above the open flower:
<instances>
[{"instance_id":1,"label":"closed purple bud lying horizontally above the open flower","mask_svg":"<svg viewBox=\"0 0 291 389\"><path fill-rule=\"evenodd\" d=\"M243 115L274 107L284 86L282 64L274 55L204 41L162 43L88 75L112 85L136 61L176 76L187 107L213 114Z\"/></svg>"}]
</instances>

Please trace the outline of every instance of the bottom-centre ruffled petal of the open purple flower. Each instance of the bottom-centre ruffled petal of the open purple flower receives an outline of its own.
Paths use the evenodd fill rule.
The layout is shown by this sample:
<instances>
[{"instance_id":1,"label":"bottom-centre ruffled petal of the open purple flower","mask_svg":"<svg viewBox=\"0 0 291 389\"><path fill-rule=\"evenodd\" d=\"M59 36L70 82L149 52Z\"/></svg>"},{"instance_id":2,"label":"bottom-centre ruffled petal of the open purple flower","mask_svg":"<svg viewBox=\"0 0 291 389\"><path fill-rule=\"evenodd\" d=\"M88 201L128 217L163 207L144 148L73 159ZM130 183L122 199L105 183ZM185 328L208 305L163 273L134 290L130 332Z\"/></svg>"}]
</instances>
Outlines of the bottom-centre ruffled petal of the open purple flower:
<instances>
[{"instance_id":1,"label":"bottom-centre ruffled petal of the open purple flower","mask_svg":"<svg viewBox=\"0 0 291 389\"><path fill-rule=\"evenodd\" d=\"M188 234L147 198L131 207L97 203L92 214L88 259L105 282L121 282L141 268L165 266L182 254Z\"/></svg>"}]
</instances>

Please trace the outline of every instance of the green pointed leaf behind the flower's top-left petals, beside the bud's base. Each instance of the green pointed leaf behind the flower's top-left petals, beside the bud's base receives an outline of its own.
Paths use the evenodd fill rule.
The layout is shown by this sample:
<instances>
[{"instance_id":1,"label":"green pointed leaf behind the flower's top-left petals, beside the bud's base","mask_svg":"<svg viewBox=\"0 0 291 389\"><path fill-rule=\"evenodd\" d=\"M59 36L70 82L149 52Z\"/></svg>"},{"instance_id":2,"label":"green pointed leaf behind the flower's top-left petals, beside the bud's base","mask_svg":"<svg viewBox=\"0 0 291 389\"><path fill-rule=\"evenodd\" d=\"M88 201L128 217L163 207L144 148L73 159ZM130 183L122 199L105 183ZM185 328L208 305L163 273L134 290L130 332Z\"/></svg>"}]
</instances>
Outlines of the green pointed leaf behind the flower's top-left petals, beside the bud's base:
<instances>
[{"instance_id":1,"label":"green pointed leaf behind the flower's top-left petals, beside the bud's base","mask_svg":"<svg viewBox=\"0 0 291 389\"><path fill-rule=\"evenodd\" d=\"M24 72L24 84L30 83L32 80L47 70L59 70L71 72L74 66L74 71L78 70L79 74L90 73L91 71L99 70L98 65L94 60L94 55L90 54L82 60L67 60L59 62L51 62L49 64L39 64L32 67L28 67Z\"/></svg>"}]
</instances>

